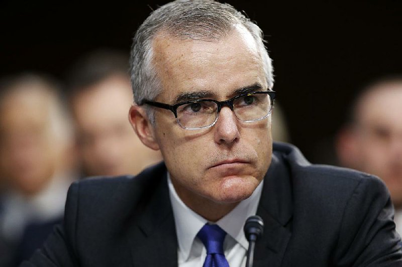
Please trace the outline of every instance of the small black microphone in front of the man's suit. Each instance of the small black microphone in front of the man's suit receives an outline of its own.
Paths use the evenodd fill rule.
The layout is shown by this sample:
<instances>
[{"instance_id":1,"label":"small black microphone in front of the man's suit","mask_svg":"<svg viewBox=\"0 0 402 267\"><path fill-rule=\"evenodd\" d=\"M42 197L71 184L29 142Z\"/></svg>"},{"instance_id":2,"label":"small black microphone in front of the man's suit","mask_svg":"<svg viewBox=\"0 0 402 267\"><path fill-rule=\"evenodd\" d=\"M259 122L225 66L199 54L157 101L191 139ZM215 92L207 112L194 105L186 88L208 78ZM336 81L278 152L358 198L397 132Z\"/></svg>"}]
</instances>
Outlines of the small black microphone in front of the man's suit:
<instances>
[{"instance_id":1,"label":"small black microphone in front of the man's suit","mask_svg":"<svg viewBox=\"0 0 402 267\"><path fill-rule=\"evenodd\" d=\"M264 221L260 216L254 215L247 218L246 223L244 224L244 234L249 241L246 267L253 266L255 241L261 237L263 229Z\"/></svg>"}]
</instances>

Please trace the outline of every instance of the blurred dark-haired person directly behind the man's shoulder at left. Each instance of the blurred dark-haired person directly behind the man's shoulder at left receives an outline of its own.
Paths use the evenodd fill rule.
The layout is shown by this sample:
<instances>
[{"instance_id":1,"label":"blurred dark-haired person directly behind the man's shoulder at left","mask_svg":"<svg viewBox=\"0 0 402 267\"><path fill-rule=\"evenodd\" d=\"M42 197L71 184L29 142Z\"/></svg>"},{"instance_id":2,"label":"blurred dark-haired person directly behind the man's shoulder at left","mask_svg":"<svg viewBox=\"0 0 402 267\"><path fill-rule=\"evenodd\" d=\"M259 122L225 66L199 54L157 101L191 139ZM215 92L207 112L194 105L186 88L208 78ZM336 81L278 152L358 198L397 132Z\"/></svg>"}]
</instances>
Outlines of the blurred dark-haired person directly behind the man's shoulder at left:
<instances>
[{"instance_id":1,"label":"blurred dark-haired person directly behind the man's shoulder at left","mask_svg":"<svg viewBox=\"0 0 402 267\"><path fill-rule=\"evenodd\" d=\"M84 176L138 174L161 161L133 131L128 55L95 51L70 72L69 102Z\"/></svg>"}]
</instances>

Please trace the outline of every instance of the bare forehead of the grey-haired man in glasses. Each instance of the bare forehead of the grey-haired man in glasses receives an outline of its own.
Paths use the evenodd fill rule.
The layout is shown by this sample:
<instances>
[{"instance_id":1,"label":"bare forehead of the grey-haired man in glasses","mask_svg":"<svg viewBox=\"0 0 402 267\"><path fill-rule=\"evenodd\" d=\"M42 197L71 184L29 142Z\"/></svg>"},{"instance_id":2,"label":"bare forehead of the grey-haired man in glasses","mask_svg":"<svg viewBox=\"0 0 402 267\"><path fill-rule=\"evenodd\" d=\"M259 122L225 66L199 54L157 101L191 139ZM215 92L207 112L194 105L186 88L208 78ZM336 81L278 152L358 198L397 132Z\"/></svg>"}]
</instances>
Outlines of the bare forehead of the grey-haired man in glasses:
<instances>
[{"instance_id":1,"label":"bare forehead of the grey-haired man in glasses","mask_svg":"<svg viewBox=\"0 0 402 267\"><path fill-rule=\"evenodd\" d=\"M159 34L154 39L153 52L153 64L162 85L157 97L160 101L203 90L225 98L252 84L266 86L258 47L243 26L235 26L219 40L179 40Z\"/></svg>"}]
</instances>

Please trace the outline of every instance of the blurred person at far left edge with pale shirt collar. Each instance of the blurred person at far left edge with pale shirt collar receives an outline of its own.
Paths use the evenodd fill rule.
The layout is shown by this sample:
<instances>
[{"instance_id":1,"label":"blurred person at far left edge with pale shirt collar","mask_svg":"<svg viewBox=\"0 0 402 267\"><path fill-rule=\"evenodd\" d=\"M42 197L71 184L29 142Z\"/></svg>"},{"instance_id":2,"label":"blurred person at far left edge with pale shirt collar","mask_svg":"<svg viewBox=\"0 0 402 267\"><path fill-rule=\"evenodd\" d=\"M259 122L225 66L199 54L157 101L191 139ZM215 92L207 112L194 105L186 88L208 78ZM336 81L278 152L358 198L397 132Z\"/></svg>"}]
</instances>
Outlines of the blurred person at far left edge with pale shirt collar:
<instances>
[{"instance_id":1,"label":"blurred person at far left edge with pale shirt collar","mask_svg":"<svg viewBox=\"0 0 402 267\"><path fill-rule=\"evenodd\" d=\"M0 243L6 247L1 266L29 257L62 220L74 177L65 110L58 87L44 76L22 74L1 84Z\"/></svg>"}]
</instances>

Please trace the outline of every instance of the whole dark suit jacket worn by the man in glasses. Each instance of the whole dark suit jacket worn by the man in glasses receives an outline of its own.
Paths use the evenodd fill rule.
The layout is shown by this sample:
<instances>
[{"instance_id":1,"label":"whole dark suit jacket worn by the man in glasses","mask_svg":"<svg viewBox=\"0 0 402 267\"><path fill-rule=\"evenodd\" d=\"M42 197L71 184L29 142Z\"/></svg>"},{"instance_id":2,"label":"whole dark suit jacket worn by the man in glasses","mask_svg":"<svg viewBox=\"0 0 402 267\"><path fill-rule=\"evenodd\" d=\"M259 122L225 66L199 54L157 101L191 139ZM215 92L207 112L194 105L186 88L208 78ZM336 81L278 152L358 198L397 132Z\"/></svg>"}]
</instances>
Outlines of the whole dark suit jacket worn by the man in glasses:
<instances>
[{"instance_id":1,"label":"whole dark suit jacket worn by the man in glasses","mask_svg":"<svg viewBox=\"0 0 402 267\"><path fill-rule=\"evenodd\" d=\"M311 165L295 147L274 144L264 179L254 266L402 266L378 178ZM164 164L135 178L74 183L63 226L23 266L177 266Z\"/></svg>"}]
</instances>

